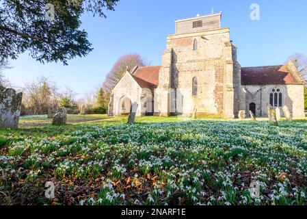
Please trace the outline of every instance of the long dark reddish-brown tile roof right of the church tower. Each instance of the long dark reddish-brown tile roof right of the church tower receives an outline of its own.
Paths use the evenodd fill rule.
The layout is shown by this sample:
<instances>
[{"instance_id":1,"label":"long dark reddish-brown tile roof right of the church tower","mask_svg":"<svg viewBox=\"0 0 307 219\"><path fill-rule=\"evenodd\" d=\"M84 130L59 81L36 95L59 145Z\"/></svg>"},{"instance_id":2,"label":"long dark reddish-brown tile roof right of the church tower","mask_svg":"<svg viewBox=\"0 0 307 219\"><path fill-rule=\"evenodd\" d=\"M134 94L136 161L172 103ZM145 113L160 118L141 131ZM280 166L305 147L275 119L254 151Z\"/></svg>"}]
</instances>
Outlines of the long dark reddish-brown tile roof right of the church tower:
<instances>
[{"instance_id":1,"label":"long dark reddish-brown tile roof right of the church tower","mask_svg":"<svg viewBox=\"0 0 307 219\"><path fill-rule=\"evenodd\" d=\"M242 85L302 84L286 65L241 68Z\"/></svg>"}]
</instances>

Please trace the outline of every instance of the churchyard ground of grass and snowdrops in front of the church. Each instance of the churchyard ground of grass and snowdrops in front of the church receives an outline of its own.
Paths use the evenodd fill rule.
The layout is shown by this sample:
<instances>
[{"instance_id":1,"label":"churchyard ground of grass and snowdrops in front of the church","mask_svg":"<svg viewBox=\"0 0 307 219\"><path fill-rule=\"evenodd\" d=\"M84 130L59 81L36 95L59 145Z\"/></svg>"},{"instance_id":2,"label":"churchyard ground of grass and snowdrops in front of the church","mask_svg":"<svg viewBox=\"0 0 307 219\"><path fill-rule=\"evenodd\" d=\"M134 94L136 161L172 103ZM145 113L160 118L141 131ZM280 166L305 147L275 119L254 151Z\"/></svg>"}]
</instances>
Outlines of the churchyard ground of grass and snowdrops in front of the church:
<instances>
[{"instance_id":1,"label":"churchyard ground of grass and snowdrops in front of the church","mask_svg":"<svg viewBox=\"0 0 307 219\"><path fill-rule=\"evenodd\" d=\"M0 130L0 203L306 205L307 120L68 116ZM282 175L283 174L283 175ZM284 177L280 177L280 176ZM47 181L55 198L44 196ZM252 198L250 183L260 183Z\"/></svg>"}]
</instances>

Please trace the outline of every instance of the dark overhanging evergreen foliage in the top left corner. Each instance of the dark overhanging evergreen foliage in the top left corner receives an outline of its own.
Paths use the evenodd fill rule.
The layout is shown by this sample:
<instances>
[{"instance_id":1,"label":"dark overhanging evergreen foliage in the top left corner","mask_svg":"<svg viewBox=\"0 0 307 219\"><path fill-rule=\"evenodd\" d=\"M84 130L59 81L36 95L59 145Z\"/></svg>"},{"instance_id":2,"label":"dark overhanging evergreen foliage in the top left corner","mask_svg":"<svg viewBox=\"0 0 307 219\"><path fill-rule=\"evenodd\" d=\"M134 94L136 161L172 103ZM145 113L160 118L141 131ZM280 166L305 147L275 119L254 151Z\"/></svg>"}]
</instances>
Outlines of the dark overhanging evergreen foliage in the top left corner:
<instances>
[{"instance_id":1,"label":"dark overhanging evergreen foliage in the top left corner","mask_svg":"<svg viewBox=\"0 0 307 219\"><path fill-rule=\"evenodd\" d=\"M84 12L105 17L119 0L0 0L0 62L29 55L39 62L63 62L88 55L92 44L79 29ZM55 8L55 19L45 18L46 4Z\"/></svg>"}]
</instances>

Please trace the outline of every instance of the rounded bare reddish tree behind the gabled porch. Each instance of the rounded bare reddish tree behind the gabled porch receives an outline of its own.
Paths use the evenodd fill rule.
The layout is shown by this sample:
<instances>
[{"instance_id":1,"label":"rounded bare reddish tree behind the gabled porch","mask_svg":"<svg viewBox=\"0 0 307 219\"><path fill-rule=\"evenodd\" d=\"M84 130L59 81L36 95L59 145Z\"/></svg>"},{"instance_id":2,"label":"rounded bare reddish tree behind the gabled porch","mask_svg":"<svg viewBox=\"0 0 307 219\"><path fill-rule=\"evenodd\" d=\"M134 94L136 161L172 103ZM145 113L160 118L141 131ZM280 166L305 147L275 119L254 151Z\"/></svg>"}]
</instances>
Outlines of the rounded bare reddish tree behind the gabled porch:
<instances>
[{"instance_id":1,"label":"rounded bare reddish tree behind the gabled porch","mask_svg":"<svg viewBox=\"0 0 307 219\"><path fill-rule=\"evenodd\" d=\"M139 54L123 55L107 74L105 82L103 83L103 89L110 93L126 70L131 71L135 66L146 65L146 60L144 60L144 58L142 58Z\"/></svg>"}]
</instances>

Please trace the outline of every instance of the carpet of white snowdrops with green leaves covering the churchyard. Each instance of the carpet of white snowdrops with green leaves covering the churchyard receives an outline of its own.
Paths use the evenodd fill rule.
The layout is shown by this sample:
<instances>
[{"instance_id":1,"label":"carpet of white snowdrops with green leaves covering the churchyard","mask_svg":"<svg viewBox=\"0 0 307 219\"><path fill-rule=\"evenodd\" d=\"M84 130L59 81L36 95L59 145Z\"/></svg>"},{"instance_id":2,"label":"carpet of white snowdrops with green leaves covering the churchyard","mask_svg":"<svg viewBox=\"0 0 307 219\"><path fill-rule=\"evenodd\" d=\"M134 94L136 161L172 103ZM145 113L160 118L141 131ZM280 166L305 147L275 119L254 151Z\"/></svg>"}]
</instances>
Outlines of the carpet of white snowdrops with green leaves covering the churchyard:
<instances>
[{"instance_id":1,"label":"carpet of white snowdrops with green leaves covering the churchyard","mask_svg":"<svg viewBox=\"0 0 307 219\"><path fill-rule=\"evenodd\" d=\"M26 156L54 164L57 177L94 173L106 177L98 197L82 200L80 205L306 203L307 188L302 183L307 176L306 123L271 127L263 122L191 120L79 128L64 137L72 139L68 145L58 139L13 142L8 154L0 155L0 167L10 167ZM111 173L106 174L107 170ZM130 198L125 191L131 190L112 185L114 176L124 181L131 170L137 171L147 190L150 187L147 196L137 193ZM33 177L39 174L31 171ZM281 173L289 179L280 181ZM293 174L302 179L299 185L291 181ZM153 176L157 176L154 182ZM250 196L252 181L261 188L255 199Z\"/></svg>"}]
</instances>

